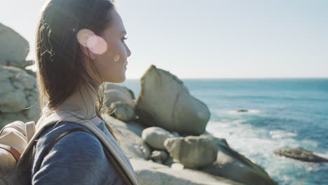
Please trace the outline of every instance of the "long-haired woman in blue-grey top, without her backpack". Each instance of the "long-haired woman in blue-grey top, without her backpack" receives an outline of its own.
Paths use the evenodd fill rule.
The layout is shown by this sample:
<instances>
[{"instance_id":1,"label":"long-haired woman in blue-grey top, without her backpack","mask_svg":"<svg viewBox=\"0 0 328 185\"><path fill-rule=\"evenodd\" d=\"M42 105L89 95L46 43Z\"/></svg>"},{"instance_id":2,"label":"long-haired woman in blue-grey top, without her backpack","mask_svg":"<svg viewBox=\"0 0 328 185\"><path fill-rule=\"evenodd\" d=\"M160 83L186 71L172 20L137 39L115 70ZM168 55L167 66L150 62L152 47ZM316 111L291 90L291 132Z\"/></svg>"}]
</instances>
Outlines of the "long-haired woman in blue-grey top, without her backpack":
<instances>
[{"instance_id":1,"label":"long-haired woman in blue-grey top, without her backpack","mask_svg":"<svg viewBox=\"0 0 328 185\"><path fill-rule=\"evenodd\" d=\"M37 79L43 114L74 113L90 120L116 142L114 132L100 117L100 87L102 82L125 81L125 66L131 55L124 42L125 34L112 1L48 1L36 31ZM32 184L124 184L99 140L87 132L70 133L46 153L57 135L78 127L81 126L57 123L46 128L32 158ZM120 151L125 156L121 148ZM125 159L130 165L127 156Z\"/></svg>"}]
</instances>

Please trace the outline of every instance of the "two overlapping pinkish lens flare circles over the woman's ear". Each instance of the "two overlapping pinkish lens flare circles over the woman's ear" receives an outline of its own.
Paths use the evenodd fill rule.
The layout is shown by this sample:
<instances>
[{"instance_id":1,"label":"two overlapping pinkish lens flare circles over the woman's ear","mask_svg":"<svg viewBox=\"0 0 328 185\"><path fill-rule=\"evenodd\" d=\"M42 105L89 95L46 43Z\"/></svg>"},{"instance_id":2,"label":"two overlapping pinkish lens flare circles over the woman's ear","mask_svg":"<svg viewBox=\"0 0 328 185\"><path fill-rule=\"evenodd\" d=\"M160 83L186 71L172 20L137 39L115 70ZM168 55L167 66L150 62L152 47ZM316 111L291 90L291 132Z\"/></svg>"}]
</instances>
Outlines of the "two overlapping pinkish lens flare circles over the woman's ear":
<instances>
[{"instance_id":1,"label":"two overlapping pinkish lens flare circles over the woman's ear","mask_svg":"<svg viewBox=\"0 0 328 185\"><path fill-rule=\"evenodd\" d=\"M77 34L78 43L89 48L95 54L102 54L107 51L107 43L101 36L97 36L90 29L81 29Z\"/></svg>"}]
</instances>

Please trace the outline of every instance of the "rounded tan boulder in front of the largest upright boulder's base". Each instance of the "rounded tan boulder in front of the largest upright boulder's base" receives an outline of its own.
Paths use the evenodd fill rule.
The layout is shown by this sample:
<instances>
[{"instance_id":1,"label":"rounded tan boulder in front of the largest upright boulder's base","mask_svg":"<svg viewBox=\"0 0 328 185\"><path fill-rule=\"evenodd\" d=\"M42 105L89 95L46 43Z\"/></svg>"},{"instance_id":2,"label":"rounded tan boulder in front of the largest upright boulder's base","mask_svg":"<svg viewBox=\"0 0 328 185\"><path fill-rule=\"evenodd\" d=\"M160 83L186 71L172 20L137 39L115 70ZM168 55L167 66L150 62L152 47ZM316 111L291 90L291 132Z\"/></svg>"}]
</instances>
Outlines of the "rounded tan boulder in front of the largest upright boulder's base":
<instances>
[{"instance_id":1,"label":"rounded tan boulder in front of the largest upright boulder's base","mask_svg":"<svg viewBox=\"0 0 328 185\"><path fill-rule=\"evenodd\" d=\"M168 138L164 145L170 156L182 163L184 167L205 167L217 159L217 142L210 136Z\"/></svg>"}]
</instances>

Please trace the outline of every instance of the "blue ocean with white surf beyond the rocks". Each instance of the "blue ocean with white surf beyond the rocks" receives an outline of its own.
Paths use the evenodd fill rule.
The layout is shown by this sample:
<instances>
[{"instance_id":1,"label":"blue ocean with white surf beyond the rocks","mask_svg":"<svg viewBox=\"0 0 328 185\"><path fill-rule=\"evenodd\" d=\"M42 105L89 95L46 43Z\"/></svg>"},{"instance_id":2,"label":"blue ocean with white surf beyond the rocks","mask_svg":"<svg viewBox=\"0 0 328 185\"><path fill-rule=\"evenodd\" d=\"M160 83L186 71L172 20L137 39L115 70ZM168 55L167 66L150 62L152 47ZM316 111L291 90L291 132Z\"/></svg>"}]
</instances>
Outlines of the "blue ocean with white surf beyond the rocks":
<instances>
[{"instance_id":1,"label":"blue ocean with white surf beyond the rocks","mask_svg":"<svg viewBox=\"0 0 328 185\"><path fill-rule=\"evenodd\" d=\"M328 184L328 163L278 157L283 147L328 155L328 78L182 79L210 109L207 132L263 167L281 185ZM135 97L139 79L124 83ZM236 110L246 109L247 112Z\"/></svg>"}]
</instances>

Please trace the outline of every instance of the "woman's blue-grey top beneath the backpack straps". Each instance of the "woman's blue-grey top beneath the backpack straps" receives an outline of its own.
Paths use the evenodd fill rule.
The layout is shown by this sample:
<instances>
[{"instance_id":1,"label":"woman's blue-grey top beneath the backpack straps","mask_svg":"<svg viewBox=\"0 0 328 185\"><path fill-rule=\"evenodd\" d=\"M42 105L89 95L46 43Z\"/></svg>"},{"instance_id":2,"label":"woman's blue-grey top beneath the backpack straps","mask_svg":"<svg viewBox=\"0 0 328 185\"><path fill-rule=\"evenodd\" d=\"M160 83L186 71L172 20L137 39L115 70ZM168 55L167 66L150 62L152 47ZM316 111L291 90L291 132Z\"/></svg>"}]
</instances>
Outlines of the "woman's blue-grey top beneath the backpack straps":
<instances>
[{"instance_id":1,"label":"woman's blue-grey top beneath the backpack straps","mask_svg":"<svg viewBox=\"0 0 328 185\"><path fill-rule=\"evenodd\" d=\"M102 121L97 128L100 128L118 146L104 124ZM41 161L40 155L46 151L53 139L72 128L83 128L83 126L62 122L55 125L55 128L50 125L43 131L36 142L32 157L31 183L33 185L124 184L114 165L107 159L100 141L88 132L72 132L62 137ZM132 168L129 158L120 146L118 149ZM36 169L40 163L40 169Z\"/></svg>"}]
</instances>

